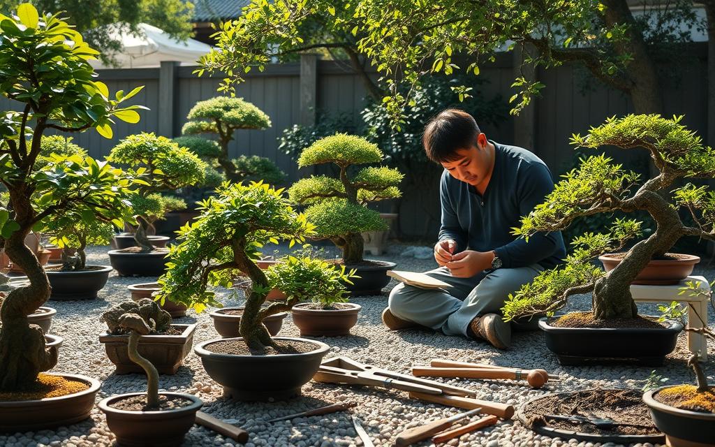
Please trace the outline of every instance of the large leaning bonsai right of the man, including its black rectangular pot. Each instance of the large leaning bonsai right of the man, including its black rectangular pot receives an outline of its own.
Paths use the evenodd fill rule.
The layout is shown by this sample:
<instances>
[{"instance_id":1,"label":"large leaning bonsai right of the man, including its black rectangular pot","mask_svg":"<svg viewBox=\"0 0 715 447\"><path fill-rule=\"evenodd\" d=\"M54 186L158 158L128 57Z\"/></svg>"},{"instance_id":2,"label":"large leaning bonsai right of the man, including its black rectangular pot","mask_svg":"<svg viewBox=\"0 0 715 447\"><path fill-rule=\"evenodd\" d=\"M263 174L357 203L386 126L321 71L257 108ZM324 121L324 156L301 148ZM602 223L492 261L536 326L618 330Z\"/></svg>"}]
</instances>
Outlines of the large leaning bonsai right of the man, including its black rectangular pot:
<instances>
[{"instance_id":1,"label":"large leaning bonsai right of the man, including its black rectangular pot","mask_svg":"<svg viewBox=\"0 0 715 447\"><path fill-rule=\"evenodd\" d=\"M608 233L576 237L572 242L575 250L565 265L541 272L533 283L510 295L503 308L506 319L551 314L571 295L591 293L591 313L569 313L539 322L546 331L548 348L562 364L613 358L659 364L675 348L682 325L639 316L630 286L651 260L669 256L668 250L681 237L715 237L713 220L694 215L698 226L689 227L678 214L679 208L696 213L702 200L709 197L705 187L688 184L676 188L670 201L662 195L678 178L715 176L715 151L704 147L699 137L679 123L680 119L659 115L613 117L592 128L586 137L575 135L572 142L581 147L648 149L660 173L638 184L638 175L626 172L603 155L582 159L578 169L568 172L515 230L516 235L528 237L536 232L563 230L579 216L615 211L644 210L655 222L655 231L633 245L613 270L603 272L590 261L624 247L640 232L640 222L617 219ZM683 275L692 269L692 262L686 262L690 270Z\"/></svg>"}]
</instances>

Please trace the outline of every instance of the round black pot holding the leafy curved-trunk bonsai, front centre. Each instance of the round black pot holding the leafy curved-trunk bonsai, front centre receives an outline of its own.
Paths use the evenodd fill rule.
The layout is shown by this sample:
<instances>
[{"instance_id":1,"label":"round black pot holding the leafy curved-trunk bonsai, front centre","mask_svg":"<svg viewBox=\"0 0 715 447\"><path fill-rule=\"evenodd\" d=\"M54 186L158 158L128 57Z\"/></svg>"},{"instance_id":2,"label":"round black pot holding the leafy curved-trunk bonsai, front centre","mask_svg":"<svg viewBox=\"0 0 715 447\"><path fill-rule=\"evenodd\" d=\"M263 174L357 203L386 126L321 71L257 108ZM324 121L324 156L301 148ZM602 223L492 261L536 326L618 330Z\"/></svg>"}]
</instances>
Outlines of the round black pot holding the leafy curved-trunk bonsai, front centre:
<instances>
[{"instance_id":1,"label":"round black pot holding the leafy curved-trunk bonsai, front centre","mask_svg":"<svg viewBox=\"0 0 715 447\"><path fill-rule=\"evenodd\" d=\"M237 401L284 401L300 396L305 385L320 368L320 361L330 346L316 340L275 337L274 340L298 341L314 345L307 353L276 355L232 355L214 353L212 343L243 338L219 338L194 346L207 374L222 385L224 396ZM209 348L209 349L207 349Z\"/></svg>"}]
</instances>

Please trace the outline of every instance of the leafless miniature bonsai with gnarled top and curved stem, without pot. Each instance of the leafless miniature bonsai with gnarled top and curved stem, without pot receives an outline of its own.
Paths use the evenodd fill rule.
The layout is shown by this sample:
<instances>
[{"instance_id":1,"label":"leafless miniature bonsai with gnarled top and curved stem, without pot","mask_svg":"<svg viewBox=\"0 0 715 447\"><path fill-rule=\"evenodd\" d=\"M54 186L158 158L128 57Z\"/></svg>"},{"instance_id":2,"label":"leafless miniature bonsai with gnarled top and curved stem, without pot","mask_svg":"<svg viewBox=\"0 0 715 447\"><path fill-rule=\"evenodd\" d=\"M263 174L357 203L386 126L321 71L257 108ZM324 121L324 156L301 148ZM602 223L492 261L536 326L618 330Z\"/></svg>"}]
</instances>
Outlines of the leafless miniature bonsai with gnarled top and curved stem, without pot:
<instances>
[{"instance_id":1,"label":"leafless miniature bonsai with gnarled top and curved stem, without pot","mask_svg":"<svg viewBox=\"0 0 715 447\"><path fill-rule=\"evenodd\" d=\"M143 298L138 303L129 301L107 310L102 314L102 320L107 323L109 333L114 335L129 333L127 345L129 358L144 368L147 373L147 407L159 407L159 372L152 362L142 357L137 349L139 337L150 333L160 333L172 324L172 317L166 310L149 298Z\"/></svg>"}]
</instances>

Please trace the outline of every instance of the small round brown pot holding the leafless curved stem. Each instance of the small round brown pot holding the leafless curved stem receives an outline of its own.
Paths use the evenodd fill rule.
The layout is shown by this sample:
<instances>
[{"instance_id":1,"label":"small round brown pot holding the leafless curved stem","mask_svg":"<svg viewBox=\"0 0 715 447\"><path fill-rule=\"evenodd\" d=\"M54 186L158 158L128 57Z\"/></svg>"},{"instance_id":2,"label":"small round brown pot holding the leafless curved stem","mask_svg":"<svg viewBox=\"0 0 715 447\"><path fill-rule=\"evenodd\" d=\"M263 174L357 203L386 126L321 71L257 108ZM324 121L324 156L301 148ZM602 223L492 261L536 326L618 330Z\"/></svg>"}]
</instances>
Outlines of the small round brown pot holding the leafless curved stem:
<instances>
[{"instance_id":1,"label":"small round brown pot holding the leafless curved stem","mask_svg":"<svg viewBox=\"0 0 715 447\"><path fill-rule=\"evenodd\" d=\"M112 407L112 404L132 396L146 396L146 393L119 394L97 404L99 410L107 415L107 426L114 436L117 436L119 446L180 446L196 421L197 411L204 404L201 399L191 394L162 391L159 396L180 396L191 403L163 411L127 411Z\"/></svg>"}]
</instances>

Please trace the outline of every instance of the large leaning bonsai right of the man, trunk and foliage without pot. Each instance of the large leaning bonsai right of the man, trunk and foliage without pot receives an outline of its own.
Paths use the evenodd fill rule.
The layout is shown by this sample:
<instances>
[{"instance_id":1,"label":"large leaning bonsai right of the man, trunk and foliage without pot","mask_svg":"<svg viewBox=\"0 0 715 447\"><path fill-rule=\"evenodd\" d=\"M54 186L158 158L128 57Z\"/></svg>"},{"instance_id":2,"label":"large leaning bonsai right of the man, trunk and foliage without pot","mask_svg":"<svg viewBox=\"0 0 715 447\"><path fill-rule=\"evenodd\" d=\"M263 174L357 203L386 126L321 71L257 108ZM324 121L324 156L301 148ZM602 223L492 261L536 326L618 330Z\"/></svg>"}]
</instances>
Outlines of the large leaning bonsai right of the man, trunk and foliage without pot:
<instances>
[{"instance_id":1,"label":"large leaning bonsai right of the man, trunk and foliage without pot","mask_svg":"<svg viewBox=\"0 0 715 447\"><path fill-rule=\"evenodd\" d=\"M706 187L688 184L672 191L669 202L661 195L679 178L715 177L715 151L704 147L700 137L680 124L682 117L628 115L610 118L593 127L588 135L574 135L572 144L596 148L612 145L623 149L644 148L651 154L659 175L636 185L638 176L626 172L604 156L583 159L577 170L568 172L553 192L529 215L522 217L514 234L529 237L536 232L563 230L577 217L612 213L648 212L655 231L628 250L620 264L604 275L588 264L593 257L619 250L626 240L640 234L641 223L618 219L603 235L586 234L573 243L577 250L566 265L546 270L533 283L510 295L503 311L508 319L552 313L576 293L593 294L596 318L633 318L636 304L630 285L653 257L662 256L683 236L715 239L713 228L715 195ZM638 189L633 192L632 190ZM694 227L684 225L678 211L691 212Z\"/></svg>"}]
</instances>

